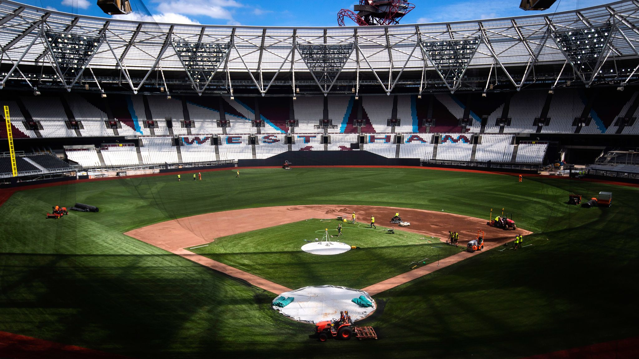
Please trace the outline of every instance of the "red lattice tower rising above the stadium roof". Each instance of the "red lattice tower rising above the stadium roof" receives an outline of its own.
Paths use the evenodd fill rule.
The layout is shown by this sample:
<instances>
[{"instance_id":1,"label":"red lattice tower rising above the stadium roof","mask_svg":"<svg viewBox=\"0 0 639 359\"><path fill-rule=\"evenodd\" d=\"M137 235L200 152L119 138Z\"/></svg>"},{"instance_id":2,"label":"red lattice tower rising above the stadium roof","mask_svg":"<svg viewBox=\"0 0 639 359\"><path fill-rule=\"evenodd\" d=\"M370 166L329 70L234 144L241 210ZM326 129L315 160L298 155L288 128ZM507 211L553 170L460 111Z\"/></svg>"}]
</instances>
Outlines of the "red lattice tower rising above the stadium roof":
<instances>
[{"instance_id":1,"label":"red lattice tower rising above the stadium roof","mask_svg":"<svg viewBox=\"0 0 639 359\"><path fill-rule=\"evenodd\" d=\"M342 9L337 13L337 24L344 26L344 17L358 26L396 25L399 20L415 8L406 0L360 0L354 10Z\"/></svg>"}]
</instances>

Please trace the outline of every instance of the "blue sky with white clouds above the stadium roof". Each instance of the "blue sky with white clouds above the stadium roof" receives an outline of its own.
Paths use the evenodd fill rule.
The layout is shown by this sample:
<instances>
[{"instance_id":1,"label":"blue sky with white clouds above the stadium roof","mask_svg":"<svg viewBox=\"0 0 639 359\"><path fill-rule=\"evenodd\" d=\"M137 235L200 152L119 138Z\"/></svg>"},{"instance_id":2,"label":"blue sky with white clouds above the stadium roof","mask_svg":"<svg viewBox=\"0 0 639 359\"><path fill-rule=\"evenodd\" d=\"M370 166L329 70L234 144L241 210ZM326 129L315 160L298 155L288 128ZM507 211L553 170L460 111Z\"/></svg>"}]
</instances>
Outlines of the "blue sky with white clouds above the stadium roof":
<instances>
[{"instance_id":1,"label":"blue sky with white clouds above the stadium roof","mask_svg":"<svg viewBox=\"0 0 639 359\"><path fill-rule=\"evenodd\" d=\"M58 11L109 17L96 0L15 0ZM358 0L130 0L134 12L124 19L249 26L336 26L337 11ZM611 0L558 0L550 10L520 10L520 0L412 0L415 10L401 23L491 19L575 10ZM350 21L350 20L348 20ZM347 25L350 24L347 22Z\"/></svg>"}]
</instances>

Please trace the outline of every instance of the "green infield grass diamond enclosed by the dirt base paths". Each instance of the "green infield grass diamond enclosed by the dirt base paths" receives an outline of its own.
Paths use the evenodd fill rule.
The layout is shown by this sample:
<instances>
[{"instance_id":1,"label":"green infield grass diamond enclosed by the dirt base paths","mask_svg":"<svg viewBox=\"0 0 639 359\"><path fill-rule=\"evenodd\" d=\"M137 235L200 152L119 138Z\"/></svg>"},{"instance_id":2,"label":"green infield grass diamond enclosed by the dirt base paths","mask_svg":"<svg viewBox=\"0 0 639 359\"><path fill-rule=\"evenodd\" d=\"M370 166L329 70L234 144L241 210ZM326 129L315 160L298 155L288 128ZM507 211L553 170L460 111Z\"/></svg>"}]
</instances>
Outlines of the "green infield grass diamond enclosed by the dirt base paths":
<instances>
[{"instance_id":1,"label":"green infield grass diamond enclosed by the dirt base paths","mask_svg":"<svg viewBox=\"0 0 639 359\"><path fill-rule=\"evenodd\" d=\"M366 224L343 224L337 238L337 220L312 218L217 238L206 247L189 249L197 254L239 268L282 286L344 286L363 288L410 270L409 263L426 264L465 250L445 245L438 238ZM329 229L333 241L359 248L334 256L319 256L300 248ZM188 249L188 248L187 248ZM423 263L420 265L424 265Z\"/></svg>"}]
</instances>

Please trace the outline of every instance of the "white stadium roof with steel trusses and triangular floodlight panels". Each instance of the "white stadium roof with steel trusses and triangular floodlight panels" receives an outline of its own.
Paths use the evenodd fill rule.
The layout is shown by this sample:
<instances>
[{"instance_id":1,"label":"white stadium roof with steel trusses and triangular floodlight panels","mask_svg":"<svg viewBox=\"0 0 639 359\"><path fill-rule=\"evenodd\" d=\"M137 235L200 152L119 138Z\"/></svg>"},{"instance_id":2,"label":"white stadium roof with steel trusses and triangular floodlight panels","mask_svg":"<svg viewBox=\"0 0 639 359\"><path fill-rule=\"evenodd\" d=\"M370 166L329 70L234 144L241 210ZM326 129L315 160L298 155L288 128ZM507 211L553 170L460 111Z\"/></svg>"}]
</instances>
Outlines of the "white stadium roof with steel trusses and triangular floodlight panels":
<instances>
[{"instance_id":1,"label":"white stadium roof with steel trusses and triangular floodlight panels","mask_svg":"<svg viewBox=\"0 0 639 359\"><path fill-rule=\"evenodd\" d=\"M343 79L353 82L353 87L359 86L360 79L369 79L390 92L397 84L406 84L408 77L411 82L417 81L415 86L419 85L420 90L424 79L430 78L442 89L454 91L465 86L462 79L466 70L473 68L489 72L488 76L484 74L486 79L500 69L500 75L520 88L535 66L552 65L553 69L563 68L562 73L572 73L566 70L572 66L582 82L595 84L606 80L597 72L607 71L606 66L613 61L631 63L622 65L623 71L615 69L615 80L625 83L634 78L639 58L639 29L635 25L638 12L639 2L628 0L552 15L438 24L250 27L110 20L2 0L0 84L22 78L35 87L26 73L31 72L33 79L37 76L33 66L43 65L47 68L43 72L52 74L49 79L58 79L59 86L67 89L78 86L83 79L93 79L94 71L99 74L102 69L102 75L109 70L111 76L117 70L135 92L142 91L149 77L156 77L155 72L162 76L173 73L167 75L171 79L181 73L181 81L190 83L192 91L204 93L206 85L230 79L232 86L234 79L242 79L252 82L264 95L272 79L273 85L282 84L284 74L288 88L295 88L298 73L302 78L312 74L306 80L314 80L325 94L332 83L342 83ZM590 46L584 42L589 41L589 31L599 34L601 48L587 53L586 47ZM68 40L71 43L54 50L51 42L60 40L49 39L56 33L72 34ZM82 53L73 50L69 55L84 36L100 40ZM304 50L311 49L309 45L316 50ZM189 52L189 47L199 50ZM209 47L216 50L207 50ZM579 57L582 51L589 55L583 63L591 67L584 72ZM62 68L60 54L66 54L64 61L77 63L77 72ZM85 68L90 70L83 72ZM323 77L319 76L321 80L316 76L318 71L324 72ZM553 72L559 77L557 70ZM105 78L102 75L98 76L100 81Z\"/></svg>"}]
</instances>

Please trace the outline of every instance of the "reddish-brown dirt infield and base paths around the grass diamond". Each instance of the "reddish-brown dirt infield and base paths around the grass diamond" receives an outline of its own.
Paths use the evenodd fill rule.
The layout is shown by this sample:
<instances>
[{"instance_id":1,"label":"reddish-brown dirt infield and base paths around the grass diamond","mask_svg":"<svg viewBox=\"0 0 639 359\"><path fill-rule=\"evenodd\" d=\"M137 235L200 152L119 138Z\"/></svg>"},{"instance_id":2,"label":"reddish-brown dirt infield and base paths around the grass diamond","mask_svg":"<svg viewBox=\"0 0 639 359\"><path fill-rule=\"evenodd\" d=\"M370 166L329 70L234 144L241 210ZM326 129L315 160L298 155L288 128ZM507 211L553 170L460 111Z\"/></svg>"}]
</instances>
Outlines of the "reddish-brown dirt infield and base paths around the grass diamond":
<instances>
[{"instance_id":1,"label":"reddish-brown dirt infield and base paths around the grass diamond","mask_svg":"<svg viewBox=\"0 0 639 359\"><path fill-rule=\"evenodd\" d=\"M256 229L273 227L274 225L287 224L309 218L335 218L338 215L343 215L350 219L350 215L353 211L355 211L355 215L357 216L357 222L370 223L371 216L374 216L376 218L376 224L386 227L394 225L390 224L390 218L396 212L399 212L399 216L411 224L409 227L402 227L401 229L404 231L439 237L443 240L448 238L449 230L457 231L459 233L459 245L463 247L466 246L468 241L475 238L477 229L481 229L486 232L484 250L503 245L506 241L512 240L516 234L530 234L530 232L522 229L518 229L517 231L496 229L486 225L486 220L445 212L414 210L411 208L348 205L277 206L206 213L204 215L147 225L146 227L134 229L125 234L177 254L178 256L190 259L203 266L208 266L213 270L221 271L232 277L245 280L256 287L266 289L275 294L281 294L291 289L245 271L238 270L227 264L213 261L213 259L200 256L184 248L197 247L198 245L214 241L215 238L229 236L231 234L254 231ZM378 294L480 253L481 252L460 252L442 259L439 262L439 266L437 266L436 263L427 264L416 270L408 271L396 277L368 286L363 290L371 295Z\"/></svg>"}]
</instances>

